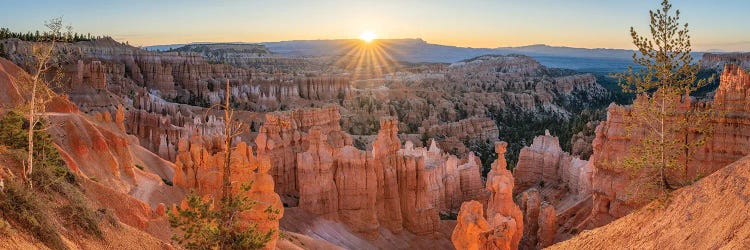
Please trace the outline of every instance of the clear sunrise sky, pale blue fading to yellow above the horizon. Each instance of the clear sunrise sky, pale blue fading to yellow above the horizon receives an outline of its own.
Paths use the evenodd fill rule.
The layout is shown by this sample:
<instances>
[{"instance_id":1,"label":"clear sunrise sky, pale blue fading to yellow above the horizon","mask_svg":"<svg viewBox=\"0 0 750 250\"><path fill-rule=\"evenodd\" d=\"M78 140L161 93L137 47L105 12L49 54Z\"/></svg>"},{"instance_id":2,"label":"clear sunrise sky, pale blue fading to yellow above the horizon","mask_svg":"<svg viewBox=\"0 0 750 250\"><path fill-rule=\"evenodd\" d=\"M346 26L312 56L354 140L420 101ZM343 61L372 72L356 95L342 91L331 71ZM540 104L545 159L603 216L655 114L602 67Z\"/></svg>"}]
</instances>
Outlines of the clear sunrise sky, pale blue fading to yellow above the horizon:
<instances>
[{"instance_id":1,"label":"clear sunrise sky, pale blue fading to yellow above the horizon","mask_svg":"<svg viewBox=\"0 0 750 250\"><path fill-rule=\"evenodd\" d=\"M0 0L0 27L42 30L63 16L79 33L131 45L422 38L462 47L532 44L631 49L658 0ZM750 51L750 1L673 0L697 51Z\"/></svg>"}]
</instances>

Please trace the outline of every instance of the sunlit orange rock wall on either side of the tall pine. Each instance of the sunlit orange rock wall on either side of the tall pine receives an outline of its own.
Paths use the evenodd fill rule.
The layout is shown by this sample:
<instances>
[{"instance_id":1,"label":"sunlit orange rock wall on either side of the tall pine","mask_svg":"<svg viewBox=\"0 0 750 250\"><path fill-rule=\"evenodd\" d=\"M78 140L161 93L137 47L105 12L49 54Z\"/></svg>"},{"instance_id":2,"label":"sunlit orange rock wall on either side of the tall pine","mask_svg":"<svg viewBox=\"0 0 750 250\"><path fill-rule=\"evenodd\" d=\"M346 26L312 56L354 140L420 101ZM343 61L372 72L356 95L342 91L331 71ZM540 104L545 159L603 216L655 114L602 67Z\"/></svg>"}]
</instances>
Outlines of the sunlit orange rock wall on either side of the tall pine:
<instances>
[{"instance_id":1,"label":"sunlit orange rock wall on either side of the tall pine","mask_svg":"<svg viewBox=\"0 0 750 250\"><path fill-rule=\"evenodd\" d=\"M748 89L750 76L738 66L727 64L721 74L713 107L723 113L715 119L714 135L688 160L687 177L706 176L750 153L748 128ZM596 129L594 139L592 224L603 225L627 215L643 204L627 195L629 174L617 165L628 148L639 140L628 137L625 128L628 107L609 107L607 121Z\"/></svg>"}]
</instances>

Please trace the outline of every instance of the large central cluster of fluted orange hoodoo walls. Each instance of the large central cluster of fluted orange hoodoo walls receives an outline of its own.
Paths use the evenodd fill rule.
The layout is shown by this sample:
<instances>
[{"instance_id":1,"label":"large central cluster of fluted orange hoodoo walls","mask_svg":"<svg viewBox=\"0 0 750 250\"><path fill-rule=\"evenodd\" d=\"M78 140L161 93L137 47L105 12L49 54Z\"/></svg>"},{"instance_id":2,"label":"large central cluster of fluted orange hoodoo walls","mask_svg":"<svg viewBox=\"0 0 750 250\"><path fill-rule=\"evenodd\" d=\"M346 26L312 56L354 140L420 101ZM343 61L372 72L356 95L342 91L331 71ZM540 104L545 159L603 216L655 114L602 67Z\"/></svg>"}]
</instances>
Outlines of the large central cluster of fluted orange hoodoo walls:
<instances>
[{"instance_id":1,"label":"large central cluster of fluted orange hoodoo walls","mask_svg":"<svg viewBox=\"0 0 750 250\"><path fill-rule=\"evenodd\" d=\"M440 231L440 213L486 200L481 162L398 139L398 121L383 118L372 151L353 147L339 127L338 109L272 113L256 138L258 155L272 159L276 191L290 206L343 222L367 239L383 227L417 235Z\"/></svg>"}]
</instances>

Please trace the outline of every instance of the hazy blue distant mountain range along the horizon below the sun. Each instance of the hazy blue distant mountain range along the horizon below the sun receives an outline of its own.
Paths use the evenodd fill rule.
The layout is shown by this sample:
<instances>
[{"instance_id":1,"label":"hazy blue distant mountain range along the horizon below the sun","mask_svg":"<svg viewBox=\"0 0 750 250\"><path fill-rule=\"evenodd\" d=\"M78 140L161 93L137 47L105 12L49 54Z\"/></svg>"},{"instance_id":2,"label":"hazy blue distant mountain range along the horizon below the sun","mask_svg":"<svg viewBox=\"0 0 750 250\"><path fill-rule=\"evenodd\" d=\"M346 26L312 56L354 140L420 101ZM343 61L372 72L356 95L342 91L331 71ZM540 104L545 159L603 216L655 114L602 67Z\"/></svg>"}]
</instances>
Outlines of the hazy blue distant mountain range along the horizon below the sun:
<instances>
[{"instance_id":1,"label":"hazy blue distant mountain range along the horizon below the sun","mask_svg":"<svg viewBox=\"0 0 750 250\"><path fill-rule=\"evenodd\" d=\"M210 43L193 43L210 44ZM250 43L232 43L250 44ZM262 44L272 53L289 57L344 55L357 49L362 42L358 39L337 40L294 40ZM586 49L557 47L543 44L521 47L469 48L427 43L422 39L381 39L380 48L388 56L398 61L413 63L453 63L487 54L522 54L533 57L550 68L567 68L583 72L619 72L632 64L632 50L625 49ZM186 44L147 46L147 50L169 50ZM702 52L693 53L697 60Z\"/></svg>"}]
</instances>

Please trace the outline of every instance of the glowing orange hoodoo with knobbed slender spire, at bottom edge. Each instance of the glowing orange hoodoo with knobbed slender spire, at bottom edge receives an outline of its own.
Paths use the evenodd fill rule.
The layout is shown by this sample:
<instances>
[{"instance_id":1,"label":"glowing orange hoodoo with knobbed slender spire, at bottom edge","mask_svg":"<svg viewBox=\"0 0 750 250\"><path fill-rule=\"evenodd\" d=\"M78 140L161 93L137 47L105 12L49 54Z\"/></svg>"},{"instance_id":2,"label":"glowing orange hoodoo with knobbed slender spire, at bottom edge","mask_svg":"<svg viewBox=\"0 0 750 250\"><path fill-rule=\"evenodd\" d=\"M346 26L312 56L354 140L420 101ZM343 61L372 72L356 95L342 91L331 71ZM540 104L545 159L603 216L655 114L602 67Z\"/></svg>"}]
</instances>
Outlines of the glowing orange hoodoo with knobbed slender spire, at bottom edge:
<instances>
[{"instance_id":1,"label":"glowing orange hoodoo with knobbed slender spire, at bottom edge","mask_svg":"<svg viewBox=\"0 0 750 250\"><path fill-rule=\"evenodd\" d=\"M513 202L513 176L503 158L507 143L495 144L500 157L487 175L487 218L482 204L464 202L451 240L456 249L518 249L524 230L524 216Z\"/></svg>"}]
</instances>

